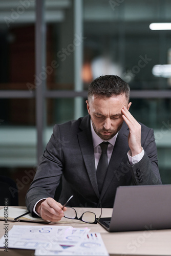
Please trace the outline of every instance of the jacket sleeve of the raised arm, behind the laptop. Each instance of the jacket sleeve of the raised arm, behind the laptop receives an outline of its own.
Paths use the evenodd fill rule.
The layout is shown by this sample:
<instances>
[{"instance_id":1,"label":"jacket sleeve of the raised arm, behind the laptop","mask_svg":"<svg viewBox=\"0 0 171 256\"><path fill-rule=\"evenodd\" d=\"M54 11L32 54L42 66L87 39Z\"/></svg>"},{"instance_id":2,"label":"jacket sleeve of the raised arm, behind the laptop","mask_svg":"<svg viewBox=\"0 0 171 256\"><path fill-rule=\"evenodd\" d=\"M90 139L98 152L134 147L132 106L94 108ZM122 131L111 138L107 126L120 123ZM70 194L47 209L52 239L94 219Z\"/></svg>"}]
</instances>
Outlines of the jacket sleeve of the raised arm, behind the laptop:
<instances>
[{"instance_id":1,"label":"jacket sleeve of the raised arm, behind the laptop","mask_svg":"<svg viewBox=\"0 0 171 256\"><path fill-rule=\"evenodd\" d=\"M141 141L141 144L144 148L143 158L138 163L130 165L133 184L162 184L158 168L157 147L155 143L153 129L149 129L145 140Z\"/></svg>"}]
</instances>

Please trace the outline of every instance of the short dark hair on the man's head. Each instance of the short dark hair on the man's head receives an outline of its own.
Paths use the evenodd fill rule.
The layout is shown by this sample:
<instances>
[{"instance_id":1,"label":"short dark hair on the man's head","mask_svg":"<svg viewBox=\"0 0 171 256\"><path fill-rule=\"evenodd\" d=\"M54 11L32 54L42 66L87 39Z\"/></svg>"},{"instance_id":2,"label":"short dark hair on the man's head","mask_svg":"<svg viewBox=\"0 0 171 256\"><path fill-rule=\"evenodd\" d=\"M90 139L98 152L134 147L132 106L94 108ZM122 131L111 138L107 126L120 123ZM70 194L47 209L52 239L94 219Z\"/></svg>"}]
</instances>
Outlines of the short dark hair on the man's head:
<instances>
[{"instance_id":1,"label":"short dark hair on the man's head","mask_svg":"<svg viewBox=\"0 0 171 256\"><path fill-rule=\"evenodd\" d=\"M130 86L119 76L104 75L94 79L88 88L88 100L93 95L103 95L112 97L113 95L125 94L127 100L130 100Z\"/></svg>"}]
</instances>

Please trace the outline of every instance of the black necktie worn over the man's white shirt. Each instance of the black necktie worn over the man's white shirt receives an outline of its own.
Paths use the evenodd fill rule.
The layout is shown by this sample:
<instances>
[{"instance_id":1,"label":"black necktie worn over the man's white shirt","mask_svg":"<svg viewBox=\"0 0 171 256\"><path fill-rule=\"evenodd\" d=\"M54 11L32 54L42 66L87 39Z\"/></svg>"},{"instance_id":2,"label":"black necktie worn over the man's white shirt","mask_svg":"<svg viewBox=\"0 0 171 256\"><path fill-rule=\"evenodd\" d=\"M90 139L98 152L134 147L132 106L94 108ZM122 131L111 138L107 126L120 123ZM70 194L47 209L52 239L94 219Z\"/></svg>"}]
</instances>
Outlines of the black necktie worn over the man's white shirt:
<instances>
[{"instance_id":1,"label":"black necktie worn over the man's white shirt","mask_svg":"<svg viewBox=\"0 0 171 256\"><path fill-rule=\"evenodd\" d=\"M99 188L99 193L101 193L101 189L103 186L103 181L105 178L106 170L108 169L108 155L107 155L107 148L109 142L102 142L100 144L101 147L101 156L99 159L99 163L97 165L97 170L96 170L96 176L97 176L97 184Z\"/></svg>"}]
</instances>

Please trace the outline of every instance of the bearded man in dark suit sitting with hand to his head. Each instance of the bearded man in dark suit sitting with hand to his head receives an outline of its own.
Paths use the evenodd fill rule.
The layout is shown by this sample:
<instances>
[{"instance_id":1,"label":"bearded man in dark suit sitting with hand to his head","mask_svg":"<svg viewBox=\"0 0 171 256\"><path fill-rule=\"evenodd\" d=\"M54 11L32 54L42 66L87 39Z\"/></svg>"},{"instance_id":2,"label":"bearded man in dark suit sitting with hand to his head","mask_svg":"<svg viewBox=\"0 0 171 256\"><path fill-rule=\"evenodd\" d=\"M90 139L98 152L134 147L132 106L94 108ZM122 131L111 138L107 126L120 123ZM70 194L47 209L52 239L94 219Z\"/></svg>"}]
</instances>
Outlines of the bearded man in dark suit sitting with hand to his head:
<instances>
[{"instance_id":1,"label":"bearded man in dark suit sitting with hand to his head","mask_svg":"<svg viewBox=\"0 0 171 256\"><path fill-rule=\"evenodd\" d=\"M72 207L113 207L120 185L161 184L154 133L131 115L129 85L118 76L100 76L86 103L87 116L54 126L26 195L33 216L59 221L71 195Z\"/></svg>"}]
</instances>

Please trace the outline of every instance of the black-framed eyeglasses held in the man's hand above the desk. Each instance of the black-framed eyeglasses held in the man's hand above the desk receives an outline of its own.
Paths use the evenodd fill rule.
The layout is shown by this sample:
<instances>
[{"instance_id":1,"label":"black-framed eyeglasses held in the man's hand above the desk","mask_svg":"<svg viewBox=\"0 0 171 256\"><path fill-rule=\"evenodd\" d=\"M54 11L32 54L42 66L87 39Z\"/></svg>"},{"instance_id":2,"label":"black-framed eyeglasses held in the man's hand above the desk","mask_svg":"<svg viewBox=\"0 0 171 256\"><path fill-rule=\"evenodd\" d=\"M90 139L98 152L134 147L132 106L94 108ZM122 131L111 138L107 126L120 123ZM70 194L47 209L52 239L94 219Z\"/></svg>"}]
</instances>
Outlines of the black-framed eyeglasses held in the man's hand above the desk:
<instances>
[{"instance_id":1,"label":"black-framed eyeglasses held in the man's hand above the desk","mask_svg":"<svg viewBox=\"0 0 171 256\"><path fill-rule=\"evenodd\" d=\"M66 206L66 207L67 207L67 210L65 212L63 212L65 218L72 219L72 220L79 220L79 221L83 221L83 222L91 223L91 224L97 224L101 217L101 214L102 214L102 208L101 208L101 214L100 214L99 218L96 218L96 215L92 211L85 211L85 212L83 212L81 217L78 218L77 212L74 208L68 207L68 206ZM100 205L100 207L101 207L101 205Z\"/></svg>"}]
</instances>

